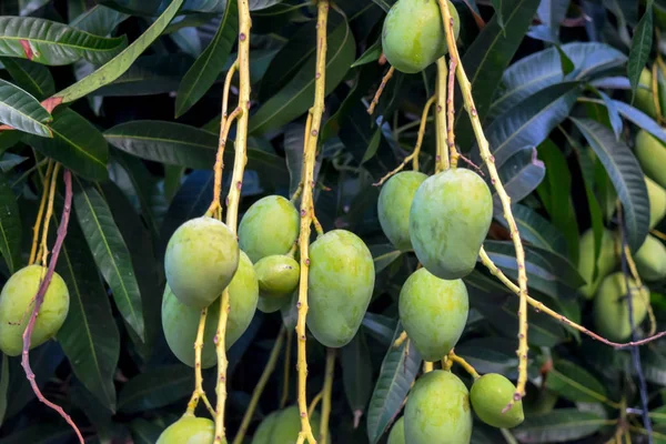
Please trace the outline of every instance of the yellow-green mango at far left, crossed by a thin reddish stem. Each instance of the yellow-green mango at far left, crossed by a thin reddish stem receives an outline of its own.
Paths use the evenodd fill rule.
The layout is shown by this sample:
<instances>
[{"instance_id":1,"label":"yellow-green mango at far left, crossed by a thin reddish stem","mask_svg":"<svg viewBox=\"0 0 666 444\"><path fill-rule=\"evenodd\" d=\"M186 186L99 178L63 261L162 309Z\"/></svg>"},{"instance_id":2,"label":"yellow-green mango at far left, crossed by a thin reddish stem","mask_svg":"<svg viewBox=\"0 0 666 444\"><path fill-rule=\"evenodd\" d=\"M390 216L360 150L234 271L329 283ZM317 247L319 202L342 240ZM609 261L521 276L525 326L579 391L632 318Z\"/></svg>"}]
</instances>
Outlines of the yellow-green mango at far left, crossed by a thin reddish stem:
<instances>
[{"instance_id":1,"label":"yellow-green mango at far left, crossed by a thin reddish stem","mask_svg":"<svg viewBox=\"0 0 666 444\"><path fill-rule=\"evenodd\" d=\"M8 356L18 356L23 351L23 332L41 282L41 265L29 265L9 278L0 293L0 350ZM53 272L51 283L34 321L30 350L56 336L69 313L70 296L60 274Z\"/></svg>"}]
</instances>

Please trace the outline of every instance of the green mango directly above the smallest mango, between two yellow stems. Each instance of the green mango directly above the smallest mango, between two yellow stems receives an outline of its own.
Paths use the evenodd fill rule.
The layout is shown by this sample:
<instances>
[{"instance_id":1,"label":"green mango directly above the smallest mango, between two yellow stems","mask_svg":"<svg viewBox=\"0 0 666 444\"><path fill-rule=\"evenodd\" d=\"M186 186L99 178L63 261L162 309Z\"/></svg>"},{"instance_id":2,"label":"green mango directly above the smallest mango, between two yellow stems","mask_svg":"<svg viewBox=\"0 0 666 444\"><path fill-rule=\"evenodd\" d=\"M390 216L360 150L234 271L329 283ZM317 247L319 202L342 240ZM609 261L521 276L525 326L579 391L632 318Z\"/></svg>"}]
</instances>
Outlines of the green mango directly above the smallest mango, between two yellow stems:
<instances>
[{"instance_id":1,"label":"green mango directly above the smallest mango, between two yellow stems","mask_svg":"<svg viewBox=\"0 0 666 444\"><path fill-rule=\"evenodd\" d=\"M285 254L299 238L300 223L293 203L281 195L266 195L254 202L241 220L241 250L253 263L272 254Z\"/></svg>"}]
</instances>

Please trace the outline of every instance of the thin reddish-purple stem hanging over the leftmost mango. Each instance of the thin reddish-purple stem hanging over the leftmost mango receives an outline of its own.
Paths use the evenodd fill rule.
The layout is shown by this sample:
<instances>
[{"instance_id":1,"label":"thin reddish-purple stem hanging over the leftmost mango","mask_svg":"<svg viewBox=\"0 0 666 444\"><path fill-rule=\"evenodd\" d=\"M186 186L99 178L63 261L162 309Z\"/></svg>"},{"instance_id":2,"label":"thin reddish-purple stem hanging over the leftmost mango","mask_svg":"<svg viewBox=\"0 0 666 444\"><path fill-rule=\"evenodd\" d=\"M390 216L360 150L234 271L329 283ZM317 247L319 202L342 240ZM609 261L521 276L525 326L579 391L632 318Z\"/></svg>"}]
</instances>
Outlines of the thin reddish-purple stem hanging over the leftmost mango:
<instances>
[{"instance_id":1,"label":"thin reddish-purple stem hanging over the leftmost mango","mask_svg":"<svg viewBox=\"0 0 666 444\"><path fill-rule=\"evenodd\" d=\"M64 170L63 173L64 180L64 208L62 209L62 216L60 218L60 226L58 228L58 238L56 239L56 244L53 245L53 251L51 252L51 261L49 262L49 268L47 270L47 275L44 280L40 283L37 295L34 296L34 306L32 307L32 313L30 314L30 321L28 322L28 326L23 332L23 355L21 359L21 365L26 371L26 377L30 382L32 386L32 391L37 398L49 407L53 408L56 412L60 414L72 426L77 436L79 436L79 442L81 444L84 443L83 436L77 427L77 424L72 421L70 415L64 413L61 406L53 404L49 400L42 395L37 382L34 382L34 373L30 367L30 340L32 339L32 330L34 329L34 322L37 321L37 314L39 313L39 309L41 307L42 302L44 301L44 294L47 293L47 289L51 283L51 278L53 276L53 272L56 271L56 263L58 262L58 255L60 254L60 249L62 248L62 243L64 242L64 236L67 235L67 226L69 224L70 211L72 208L72 176L69 170Z\"/></svg>"}]
</instances>

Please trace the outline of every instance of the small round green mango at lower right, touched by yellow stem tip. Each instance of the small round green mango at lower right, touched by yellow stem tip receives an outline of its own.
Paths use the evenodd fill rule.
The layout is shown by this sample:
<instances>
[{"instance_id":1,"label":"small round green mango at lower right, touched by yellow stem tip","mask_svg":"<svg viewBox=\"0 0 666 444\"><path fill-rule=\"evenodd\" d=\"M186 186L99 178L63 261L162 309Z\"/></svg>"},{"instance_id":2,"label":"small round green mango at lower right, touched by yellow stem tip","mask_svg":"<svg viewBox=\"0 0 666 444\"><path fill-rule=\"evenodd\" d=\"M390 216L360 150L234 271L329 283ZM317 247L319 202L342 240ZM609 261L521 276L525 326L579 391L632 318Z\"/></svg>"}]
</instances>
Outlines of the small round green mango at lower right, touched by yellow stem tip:
<instances>
[{"instance_id":1,"label":"small round green mango at lower right, touched by yellow stem tip","mask_svg":"<svg viewBox=\"0 0 666 444\"><path fill-rule=\"evenodd\" d=\"M522 401L516 402L506 413L502 413L515 392L515 385L506 377L498 373L487 373L474 381L470 400L481 421L493 427L512 428L525 420Z\"/></svg>"}]
</instances>

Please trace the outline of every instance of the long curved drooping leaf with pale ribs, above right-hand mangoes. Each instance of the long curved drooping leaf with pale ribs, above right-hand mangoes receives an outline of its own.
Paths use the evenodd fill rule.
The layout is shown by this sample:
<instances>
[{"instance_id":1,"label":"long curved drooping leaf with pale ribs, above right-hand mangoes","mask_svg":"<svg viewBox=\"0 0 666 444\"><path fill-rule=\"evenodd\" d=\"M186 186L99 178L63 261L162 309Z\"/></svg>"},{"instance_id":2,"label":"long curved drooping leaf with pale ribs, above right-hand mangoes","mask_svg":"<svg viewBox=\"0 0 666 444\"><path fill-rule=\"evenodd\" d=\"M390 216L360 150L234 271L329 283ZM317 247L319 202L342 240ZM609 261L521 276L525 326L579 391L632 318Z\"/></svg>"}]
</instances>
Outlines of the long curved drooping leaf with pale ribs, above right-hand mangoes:
<instances>
[{"instance_id":1,"label":"long curved drooping leaf with pale ribs, above right-hand mangoes","mask_svg":"<svg viewBox=\"0 0 666 444\"><path fill-rule=\"evenodd\" d=\"M606 169L623 204L627 242L632 251L637 251L649 225L649 201L638 161L608 128L591 119L571 119Z\"/></svg>"}]
</instances>

